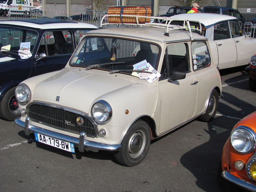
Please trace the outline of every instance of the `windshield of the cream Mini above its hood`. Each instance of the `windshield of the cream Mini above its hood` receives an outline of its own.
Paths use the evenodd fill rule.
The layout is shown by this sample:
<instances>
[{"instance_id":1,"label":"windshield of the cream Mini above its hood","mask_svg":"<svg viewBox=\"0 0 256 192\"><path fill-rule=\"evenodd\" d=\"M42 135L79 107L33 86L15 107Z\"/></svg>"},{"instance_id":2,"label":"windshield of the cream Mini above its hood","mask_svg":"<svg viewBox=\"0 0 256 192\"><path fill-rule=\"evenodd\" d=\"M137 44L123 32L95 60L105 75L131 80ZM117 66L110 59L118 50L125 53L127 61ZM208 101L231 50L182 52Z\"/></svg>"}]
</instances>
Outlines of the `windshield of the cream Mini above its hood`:
<instances>
[{"instance_id":1,"label":"windshield of the cream Mini above its hood","mask_svg":"<svg viewBox=\"0 0 256 192\"><path fill-rule=\"evenodd\" d=\"M159 48L154 44L107 37L86 37L78 45L70 60L71 66L109 70L133 69L133 65L147 60L153 68ZM91 67L90 67L91 66Z\"/></svg>"}]
</instances>

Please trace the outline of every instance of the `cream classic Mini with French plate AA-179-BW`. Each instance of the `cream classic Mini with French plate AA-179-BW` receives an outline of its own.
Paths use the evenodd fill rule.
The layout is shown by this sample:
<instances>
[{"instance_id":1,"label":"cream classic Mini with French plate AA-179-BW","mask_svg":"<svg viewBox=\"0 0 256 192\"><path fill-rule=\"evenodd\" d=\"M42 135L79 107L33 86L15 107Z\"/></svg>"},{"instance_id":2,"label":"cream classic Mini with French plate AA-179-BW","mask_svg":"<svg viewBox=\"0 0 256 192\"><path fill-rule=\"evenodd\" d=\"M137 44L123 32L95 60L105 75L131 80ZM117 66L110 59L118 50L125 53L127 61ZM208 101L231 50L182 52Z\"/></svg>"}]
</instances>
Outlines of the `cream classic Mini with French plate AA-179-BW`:
<instances>
[{"instance_id":1,"label":"cream classic Mini with French plate AA-179-BW","mask_svg":"<svg viewBox=\"0 0 256 192\"><path fill-rule=\"evenodd\" d=\"M221 80L208 40L177 26L137 25L88 32L64 69L19 84L15 123L38 142L113 150L134 166L151 140L197 117L210 121Z\"/></svg>"}]
</instances>

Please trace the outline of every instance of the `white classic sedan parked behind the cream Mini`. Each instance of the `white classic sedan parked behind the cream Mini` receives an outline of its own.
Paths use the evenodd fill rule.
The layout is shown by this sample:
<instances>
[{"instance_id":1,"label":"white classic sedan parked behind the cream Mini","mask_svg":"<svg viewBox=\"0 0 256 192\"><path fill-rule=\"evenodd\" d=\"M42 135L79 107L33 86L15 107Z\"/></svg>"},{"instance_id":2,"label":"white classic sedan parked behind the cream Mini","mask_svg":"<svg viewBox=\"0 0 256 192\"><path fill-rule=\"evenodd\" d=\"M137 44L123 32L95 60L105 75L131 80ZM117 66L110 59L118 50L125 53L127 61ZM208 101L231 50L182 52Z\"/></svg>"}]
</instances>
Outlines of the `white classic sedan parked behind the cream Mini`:
<instances>
[{"instance_id":1,"label":"white classic sedan parked behind the cream Mini","mask_svg":"<svg viewBox=\"0 0 256 192\"><path fill-rule=\"evenodd\" d=\"M256 54L256 38L242 33L236 17L196 13L179 14L170 18L189 20L192 26L196 25L193 21L201 22L203 35L209 40L213 63L219 69L247 65L252 55Z\"/></svg>"}]
</instances>

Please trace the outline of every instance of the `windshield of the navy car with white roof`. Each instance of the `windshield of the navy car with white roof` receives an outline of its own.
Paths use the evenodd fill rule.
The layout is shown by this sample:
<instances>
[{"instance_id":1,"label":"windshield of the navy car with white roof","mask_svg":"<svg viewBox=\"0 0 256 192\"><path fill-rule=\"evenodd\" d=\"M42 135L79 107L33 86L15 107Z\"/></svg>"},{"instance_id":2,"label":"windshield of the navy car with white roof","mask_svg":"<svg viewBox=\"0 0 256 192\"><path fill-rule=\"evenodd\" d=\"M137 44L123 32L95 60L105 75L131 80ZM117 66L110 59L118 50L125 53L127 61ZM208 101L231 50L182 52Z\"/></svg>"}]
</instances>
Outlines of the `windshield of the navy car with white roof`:
<instances>
[{"instance_id":1,"label":"windshield of the navy car with white roof","mask_svg":"<svg viewBox=\"0 0 256 192\"><path fill-rule=\"evenodd\" d=\"M33 51L38 33L36 31L12 27L0 27L1 51L19 51L26 42L30 44L27 48ZM30 42L30 43L29 43ZM22 44L23 43L23 44Z\"/></svg>"}]
</instances>

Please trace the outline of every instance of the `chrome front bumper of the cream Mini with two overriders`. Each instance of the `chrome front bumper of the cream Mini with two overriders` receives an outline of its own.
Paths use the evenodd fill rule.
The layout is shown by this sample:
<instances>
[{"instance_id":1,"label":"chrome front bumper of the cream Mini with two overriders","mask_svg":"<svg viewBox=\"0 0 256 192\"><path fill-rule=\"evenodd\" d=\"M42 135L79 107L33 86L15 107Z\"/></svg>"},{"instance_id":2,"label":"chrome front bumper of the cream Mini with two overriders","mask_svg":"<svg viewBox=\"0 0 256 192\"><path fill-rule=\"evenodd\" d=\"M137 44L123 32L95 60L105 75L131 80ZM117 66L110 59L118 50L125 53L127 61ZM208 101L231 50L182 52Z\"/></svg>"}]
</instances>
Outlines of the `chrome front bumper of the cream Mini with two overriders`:
<instances>
[{"instance_id":1,"label":"chrome front bumper of the cream Mini with two overriders","mask_svg":"<svg viewBox=\"0 0 256 192\"><path fill-rule=\"evenodd\" d=\"M41 133L43 135L53 137L56 139L64 140L70 143L74 143L76 147L78 147L80 152L84 152L84 150L89 150L89 151L99 151L99 150L120 150L121 145L116 144L116 145L108 145L104 143L98 143L94 141L89 141L86 138L86 135L84 132L80 133L79 138L71 137L68 135L63 135L57 132L49 131L37 126L34 126L29 123L29 117L26 118L26 121L21 121L19 118L14 120L14 123L17 125L24 127L24 131L26 135L30 135L31 132L37 132Z\"/></svg>"}]
</instances>

